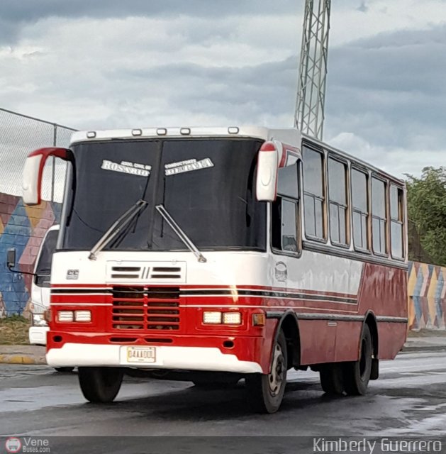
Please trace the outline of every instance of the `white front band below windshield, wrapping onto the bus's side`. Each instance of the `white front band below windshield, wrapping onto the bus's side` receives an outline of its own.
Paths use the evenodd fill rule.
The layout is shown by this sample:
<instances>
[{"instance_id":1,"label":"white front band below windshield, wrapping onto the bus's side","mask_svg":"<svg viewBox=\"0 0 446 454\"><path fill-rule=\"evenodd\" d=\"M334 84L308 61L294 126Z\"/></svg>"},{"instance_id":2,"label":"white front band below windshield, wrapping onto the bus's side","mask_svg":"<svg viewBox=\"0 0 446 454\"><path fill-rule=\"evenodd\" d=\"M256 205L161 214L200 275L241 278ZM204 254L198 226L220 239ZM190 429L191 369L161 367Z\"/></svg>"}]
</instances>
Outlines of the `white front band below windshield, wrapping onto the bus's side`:
<instances>
[{"instance_id":1,"label":"white front band below windshield, wrapping onto the bus's side","mask_svg":"<svg viewBox=\"0 0 446 454\"><path fill-rule=\"evenodd\" d=\"M182 267L177 279L157 279L157 284L186 284L236 286L287 287L319 292L357 294L363 262L348 258L313 253L304 250L301 258L291 258L271 253L252 252L208 252L207 262L201 263L189 252L150 253L101 251L96 260L88 259L89 253L63 252L53 257L52 284L149 284L146 277L135 279L111 276L111 265L150 267L153 264L165 267ZM125 258L125 260L119 259ZM287 270L286 282L277 276L276 267L284 263ZM79 270L77 280L68 279L68 270ZM142 271L141 271L142 273ZM235 292L236 296L236 292Z\"/></svg>"}]
</instances>

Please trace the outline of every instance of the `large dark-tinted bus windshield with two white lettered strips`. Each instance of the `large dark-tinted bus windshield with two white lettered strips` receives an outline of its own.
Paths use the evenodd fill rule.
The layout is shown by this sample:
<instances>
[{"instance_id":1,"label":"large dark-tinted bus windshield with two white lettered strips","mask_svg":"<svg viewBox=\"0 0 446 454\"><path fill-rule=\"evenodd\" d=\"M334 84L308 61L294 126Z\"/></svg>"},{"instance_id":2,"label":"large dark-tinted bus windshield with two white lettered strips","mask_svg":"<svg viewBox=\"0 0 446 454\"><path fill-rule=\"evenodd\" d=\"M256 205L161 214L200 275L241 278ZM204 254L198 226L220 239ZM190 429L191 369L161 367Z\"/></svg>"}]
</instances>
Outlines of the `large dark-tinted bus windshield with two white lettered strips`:
<instances>
[{"instance_id":1,"label":"large dark-tinted bus windshield with two white lettered strips","mask_svg":"<svg viewBox=\"0 0 446 454\"><path fill-rule=\"evenodd\" d=\"M62 248L90 250L138 200L145 206L105 250L187 250L162 204L200 250L265 250L266 204L255 199L261 140L113 140L73 145Z\"/></svg>"}]
</instances>

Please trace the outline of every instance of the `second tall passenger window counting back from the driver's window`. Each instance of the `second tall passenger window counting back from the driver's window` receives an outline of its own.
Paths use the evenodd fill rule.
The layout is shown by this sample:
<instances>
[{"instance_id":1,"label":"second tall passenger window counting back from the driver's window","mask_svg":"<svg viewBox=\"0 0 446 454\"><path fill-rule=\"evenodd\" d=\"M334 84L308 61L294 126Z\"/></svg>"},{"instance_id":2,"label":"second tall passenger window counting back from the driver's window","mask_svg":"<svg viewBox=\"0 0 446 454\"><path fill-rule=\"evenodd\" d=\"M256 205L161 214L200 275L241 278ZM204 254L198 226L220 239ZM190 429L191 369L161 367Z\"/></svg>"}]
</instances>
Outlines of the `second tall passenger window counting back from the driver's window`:
<instances>
[{"instance_id":1,"label":"second tall passenger window counting back from the driver's window","mask_svg":"<svg viewBox=\"0 0 446 454\"><path fill-rule=\"evenodd\" d=\"M330 158L328 160L328 197L330 211L330 240L334 244L347 245L347 165Z\"/></svg>"}]
</instances>

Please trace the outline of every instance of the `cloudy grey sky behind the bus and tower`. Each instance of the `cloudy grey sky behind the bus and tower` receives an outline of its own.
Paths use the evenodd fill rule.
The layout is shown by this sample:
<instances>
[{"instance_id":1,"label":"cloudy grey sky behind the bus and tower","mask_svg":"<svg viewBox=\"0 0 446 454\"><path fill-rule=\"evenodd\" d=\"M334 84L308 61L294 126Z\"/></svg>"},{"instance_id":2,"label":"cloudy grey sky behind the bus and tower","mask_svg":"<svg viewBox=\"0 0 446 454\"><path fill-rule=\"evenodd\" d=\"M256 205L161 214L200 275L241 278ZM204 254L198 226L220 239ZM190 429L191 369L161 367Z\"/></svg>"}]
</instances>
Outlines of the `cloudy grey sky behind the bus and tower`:
<instances>
[{"instance_id":1,"label":"cloudy grey sky behind the bus and tower","mask_svg":"<svg viewBox=\"0 0 446 454\"><path fill-rule=\"evenodd\" d=\"M1 0L0 107L73 128L289 127L304 0ZM446 0L333 0L324 140L446 165Z\"/></svg>"}]
</instances>

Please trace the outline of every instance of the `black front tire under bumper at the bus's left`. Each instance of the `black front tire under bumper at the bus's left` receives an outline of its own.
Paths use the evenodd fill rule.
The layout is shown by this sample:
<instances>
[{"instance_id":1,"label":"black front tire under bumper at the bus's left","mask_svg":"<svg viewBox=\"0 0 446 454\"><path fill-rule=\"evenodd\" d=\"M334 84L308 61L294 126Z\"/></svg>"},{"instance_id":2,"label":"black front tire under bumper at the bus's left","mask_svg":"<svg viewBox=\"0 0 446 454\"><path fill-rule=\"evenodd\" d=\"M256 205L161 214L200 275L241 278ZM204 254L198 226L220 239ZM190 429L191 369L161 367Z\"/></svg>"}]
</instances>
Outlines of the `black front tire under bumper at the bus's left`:
<instances>
[{"instance_id":1,"label":"black front tire under bumper at the bus's left","mask_svg":"<svg viewBox=\"0 0 446 454\"><path fill-rule=\"evenodd\" d=\"M79 367L79 385L90 402L113 402L123 382L121 367Z\"/></svg>"}]
</instances>

